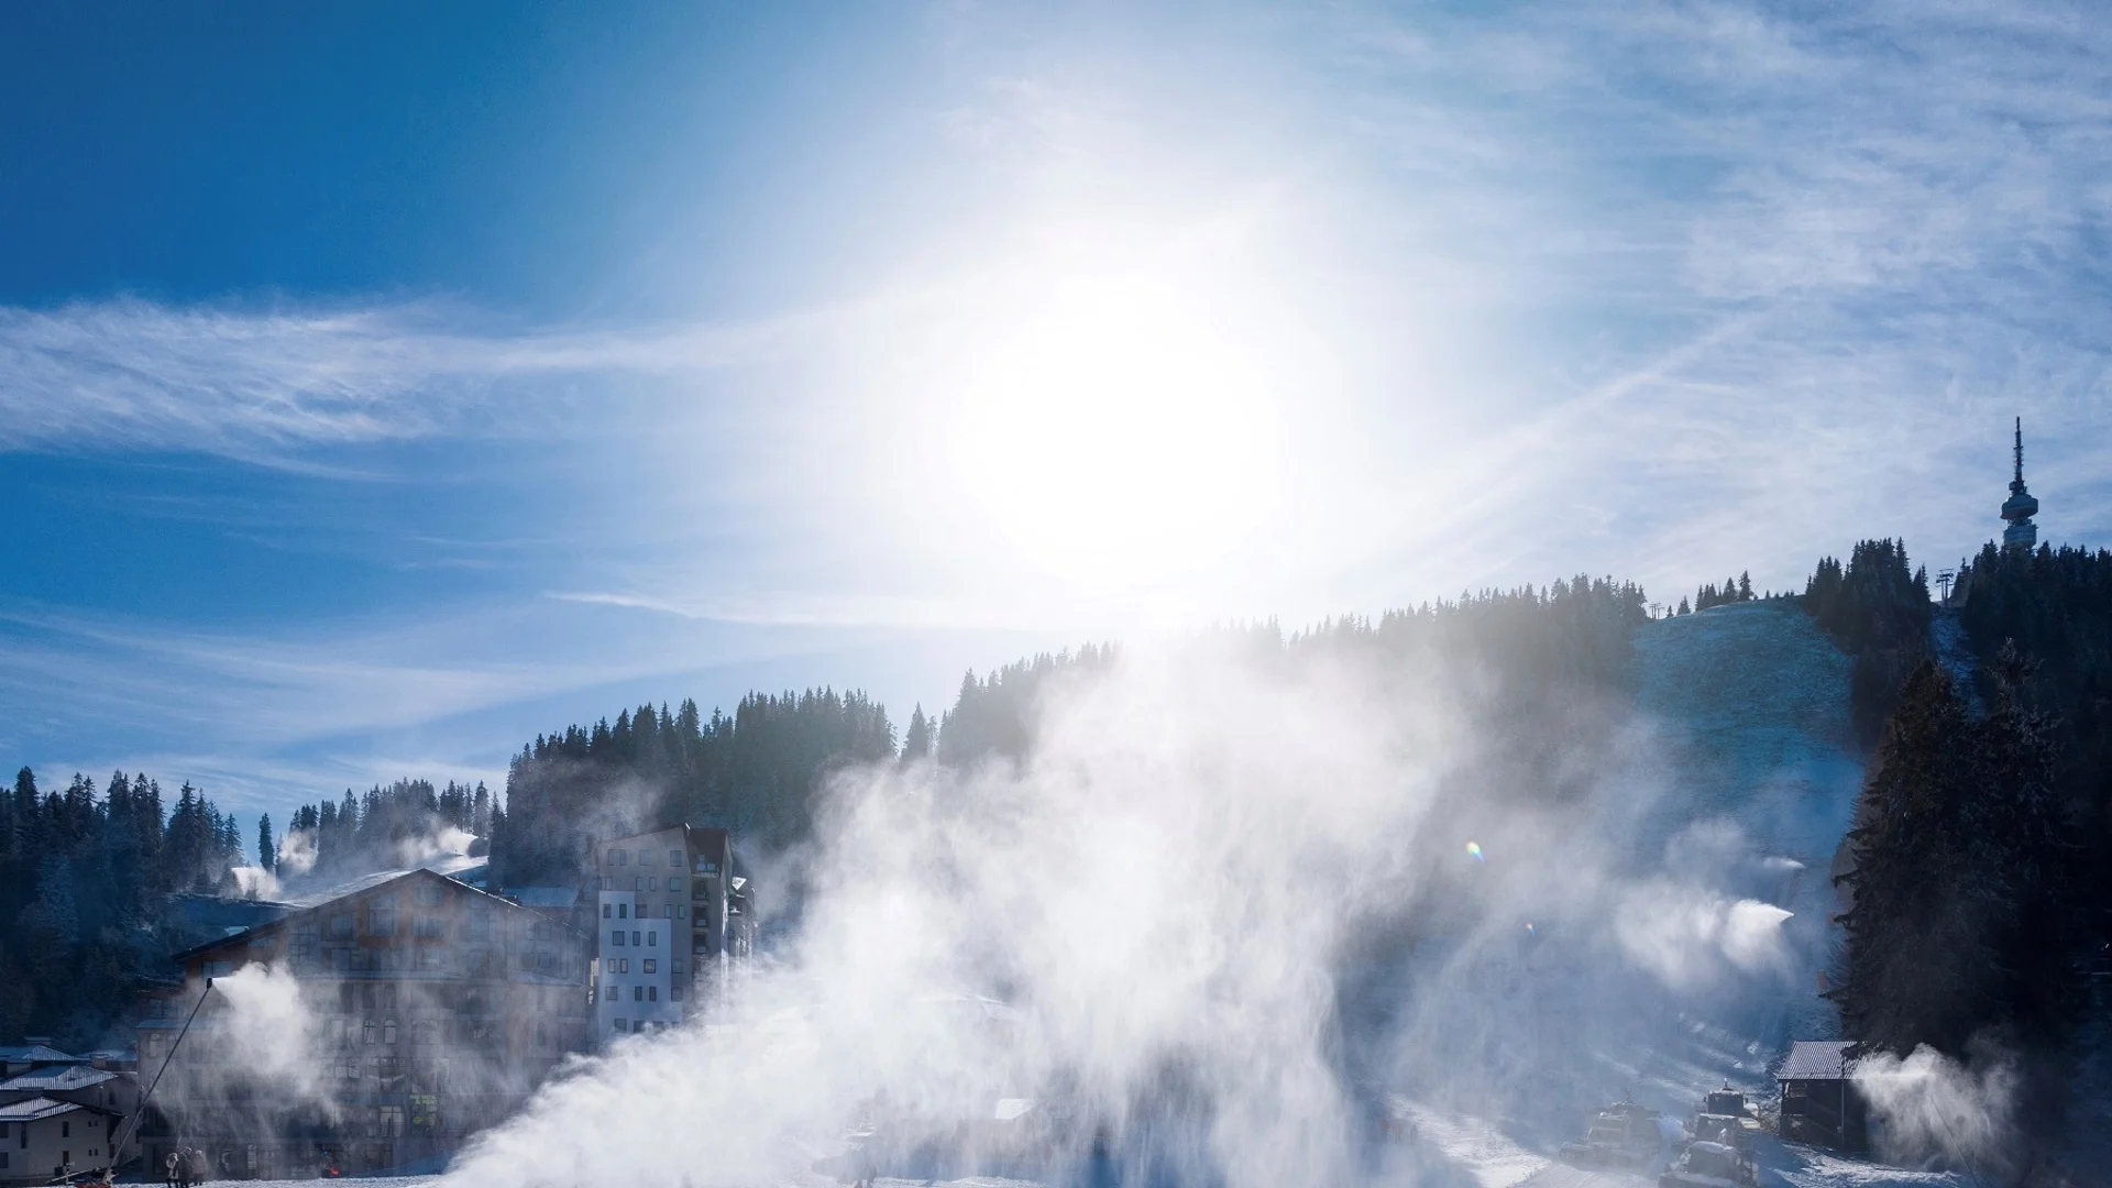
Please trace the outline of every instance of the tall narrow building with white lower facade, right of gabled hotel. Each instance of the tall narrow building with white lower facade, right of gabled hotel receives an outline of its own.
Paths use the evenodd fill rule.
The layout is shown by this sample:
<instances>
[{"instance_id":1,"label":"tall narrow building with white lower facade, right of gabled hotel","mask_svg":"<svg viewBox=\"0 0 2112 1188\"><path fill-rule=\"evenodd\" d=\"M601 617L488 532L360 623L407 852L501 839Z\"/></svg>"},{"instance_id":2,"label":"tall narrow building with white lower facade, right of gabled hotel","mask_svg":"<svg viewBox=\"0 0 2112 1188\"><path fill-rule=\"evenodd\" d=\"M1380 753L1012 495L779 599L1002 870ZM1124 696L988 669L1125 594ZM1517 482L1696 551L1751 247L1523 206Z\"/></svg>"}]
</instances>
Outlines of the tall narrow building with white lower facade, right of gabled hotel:
<instances>
[{"instance_id":1,"label":"tall narrow building with white lower facade, right of gabled hotel","mask_svg":"<svg viewBox=\"0 0 2112 1188\"><path fill-rule=\"evenodd\" d=\"M691 1019L754 951L754 905L724 829L615 837L596 846L593 871L602 1042Z\"/></svg>"}]
</instances>

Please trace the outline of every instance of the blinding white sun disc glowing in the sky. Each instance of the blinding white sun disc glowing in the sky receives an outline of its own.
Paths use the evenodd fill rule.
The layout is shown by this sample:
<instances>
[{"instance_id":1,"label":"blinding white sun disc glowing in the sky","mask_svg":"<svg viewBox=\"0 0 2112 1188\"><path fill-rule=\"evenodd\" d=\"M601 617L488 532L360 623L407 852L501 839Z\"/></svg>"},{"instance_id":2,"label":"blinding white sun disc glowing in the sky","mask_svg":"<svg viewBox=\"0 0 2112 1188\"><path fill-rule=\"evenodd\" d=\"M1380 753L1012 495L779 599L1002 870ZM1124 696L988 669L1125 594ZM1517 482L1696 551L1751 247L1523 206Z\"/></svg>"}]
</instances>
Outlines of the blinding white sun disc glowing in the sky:
<instances>
[{"instance_id":1,"label":"blinding white sun disc glowing in the sky","mask_svg":"<svg viewBox=\"0 0 2112 1188\"><path fill-rule=\"evenodd\" d=\"M948 454L995 535L1062 586L1193 577L1246 543L1274 484L1269 368L1206 292L1045 283L972 351Z\"/></svg>"}]
</instances>

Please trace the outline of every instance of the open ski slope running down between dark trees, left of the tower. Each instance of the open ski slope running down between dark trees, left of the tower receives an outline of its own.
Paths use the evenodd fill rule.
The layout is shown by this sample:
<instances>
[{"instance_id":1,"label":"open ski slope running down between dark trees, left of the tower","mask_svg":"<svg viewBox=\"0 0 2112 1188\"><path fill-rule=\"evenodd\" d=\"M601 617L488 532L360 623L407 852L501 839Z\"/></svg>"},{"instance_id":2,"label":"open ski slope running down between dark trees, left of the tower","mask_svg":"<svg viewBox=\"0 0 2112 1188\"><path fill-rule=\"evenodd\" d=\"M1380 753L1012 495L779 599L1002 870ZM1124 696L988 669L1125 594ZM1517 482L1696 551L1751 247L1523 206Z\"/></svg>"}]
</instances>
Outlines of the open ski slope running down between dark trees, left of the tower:
<instances>
[{"instance_id":1,"label":"open ski slope running down between dark trees, left of the tower","mask_svg":"<svg viewBox=\"0 0 2112 1188\"><path fill-rule=\"evenodd\" d=\"M1717 607L1645 626L1637 636L1637 708L1654 736L1666 786L1639 822L1639 860L1681 867L1723 894L1778 905L1787 966L1704 991L1654 996L1633 987L1618 1025L1580 1027L1584 1059L1567 1059L1582 1093L1599 1101L1630 1093L1683 1116L1719 1082L1772 1101L1770 1070L1791 1040L1831 1038L1837 1021L1821 998L1837 913L1829 869L1854 814L1863 763L1850 736L1848 657L1787 602ZM1576 994L1586 1015L1605 1015L1605 981L1540 977L1542 996ZM1586 1019L1588 1021L1588 1019ZM1582 1108L1576 1101L1573 1108ZM1415 1108L1411 1103L1411 1108ZM1582 1127L1578 1112L1571 1127ZM1457 1127L1476 1133L1472 1120ZM1546 1120L1502 1125L1521 1146L1502 1167L1506 1182L1540 1165L1531 1188L1626 1182L1548 1163L1557 1141ZM1426 1125L1426 1141L1447 1146L1447 1127ZM1573 1135L1571 1135L1573 1137ZM1445 1163L1487 1182L1487 1156L1466 1144ZM1783 1144L1768 1146L1768 1184L1894 1184L1901 1173L1833 1161Z\"/></svg>"}]
</instances>

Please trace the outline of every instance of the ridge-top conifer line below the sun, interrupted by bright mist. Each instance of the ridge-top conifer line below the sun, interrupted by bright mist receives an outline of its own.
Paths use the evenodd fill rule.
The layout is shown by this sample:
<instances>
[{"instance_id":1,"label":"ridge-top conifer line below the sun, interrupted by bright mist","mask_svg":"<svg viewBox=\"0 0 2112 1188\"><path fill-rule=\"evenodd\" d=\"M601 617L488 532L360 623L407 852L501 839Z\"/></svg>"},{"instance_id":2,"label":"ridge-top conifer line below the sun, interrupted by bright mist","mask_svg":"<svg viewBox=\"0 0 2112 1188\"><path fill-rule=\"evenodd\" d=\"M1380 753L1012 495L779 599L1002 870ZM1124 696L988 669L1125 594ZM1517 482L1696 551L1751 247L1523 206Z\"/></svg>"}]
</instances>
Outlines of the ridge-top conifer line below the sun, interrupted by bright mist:
<instances>
[{"instance_id":1,"label":"ridge-top conifer line below the sun, interrupted by bright mist","mask_svg":"<svg viewBox=\"0 0 2112 1188\"><path fill-rule=\"evenodd\" d=\"M1472 660L1516 689L1624 689L1635 679L1633 634L1647 621L1639 586L1576 577L1462 594L1377 621L1331 619L1288 638L1276 624L1238 632L1269 655ZM1050 681L1113 660L1113 647L1086 645L969 672L948 710L910 712L900 746L879 702L830 689L750 693L731 717L708 719L695 702L672 712L638 706L612 723L541 736L507 772L505 812L492 814L492 873L507 886L570 884L591 839L684 820L729 827L762 852L796 846L811 835L830 772L885 759L1020 759Z\"/></svg>"}]
</instances>

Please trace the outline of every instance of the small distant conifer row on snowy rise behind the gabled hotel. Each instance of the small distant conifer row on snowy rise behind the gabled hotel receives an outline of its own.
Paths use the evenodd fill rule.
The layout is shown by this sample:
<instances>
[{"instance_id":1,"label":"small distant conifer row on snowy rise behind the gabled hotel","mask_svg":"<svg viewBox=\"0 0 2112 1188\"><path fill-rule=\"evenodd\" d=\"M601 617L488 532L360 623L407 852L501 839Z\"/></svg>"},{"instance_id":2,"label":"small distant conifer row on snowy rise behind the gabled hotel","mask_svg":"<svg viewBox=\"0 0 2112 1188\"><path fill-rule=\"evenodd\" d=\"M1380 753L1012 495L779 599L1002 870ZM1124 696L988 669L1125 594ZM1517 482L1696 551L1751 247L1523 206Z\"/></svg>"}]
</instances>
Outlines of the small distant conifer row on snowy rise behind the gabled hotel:
<instances>
[{"instance_id":1,"label":"small distant conifer row on snowy rise behind the gabled hotel","mask_svg":"<svg viewBox=\"0 0 2112 1188\"><path fill-rule=\"evenodd\" d=\"M488 839L501 816L505 814L492 803L484 782L471 788L448 780L446 788L435 788L431 780L397 780L359 797L344 788L338 801L300 805L277 848L268 841L270 818L264 818L258 850L260 856L283 850L289 875L353 877L416 865L454 843L482 854L490 848Z\"/></svg>"}]
</instances>

